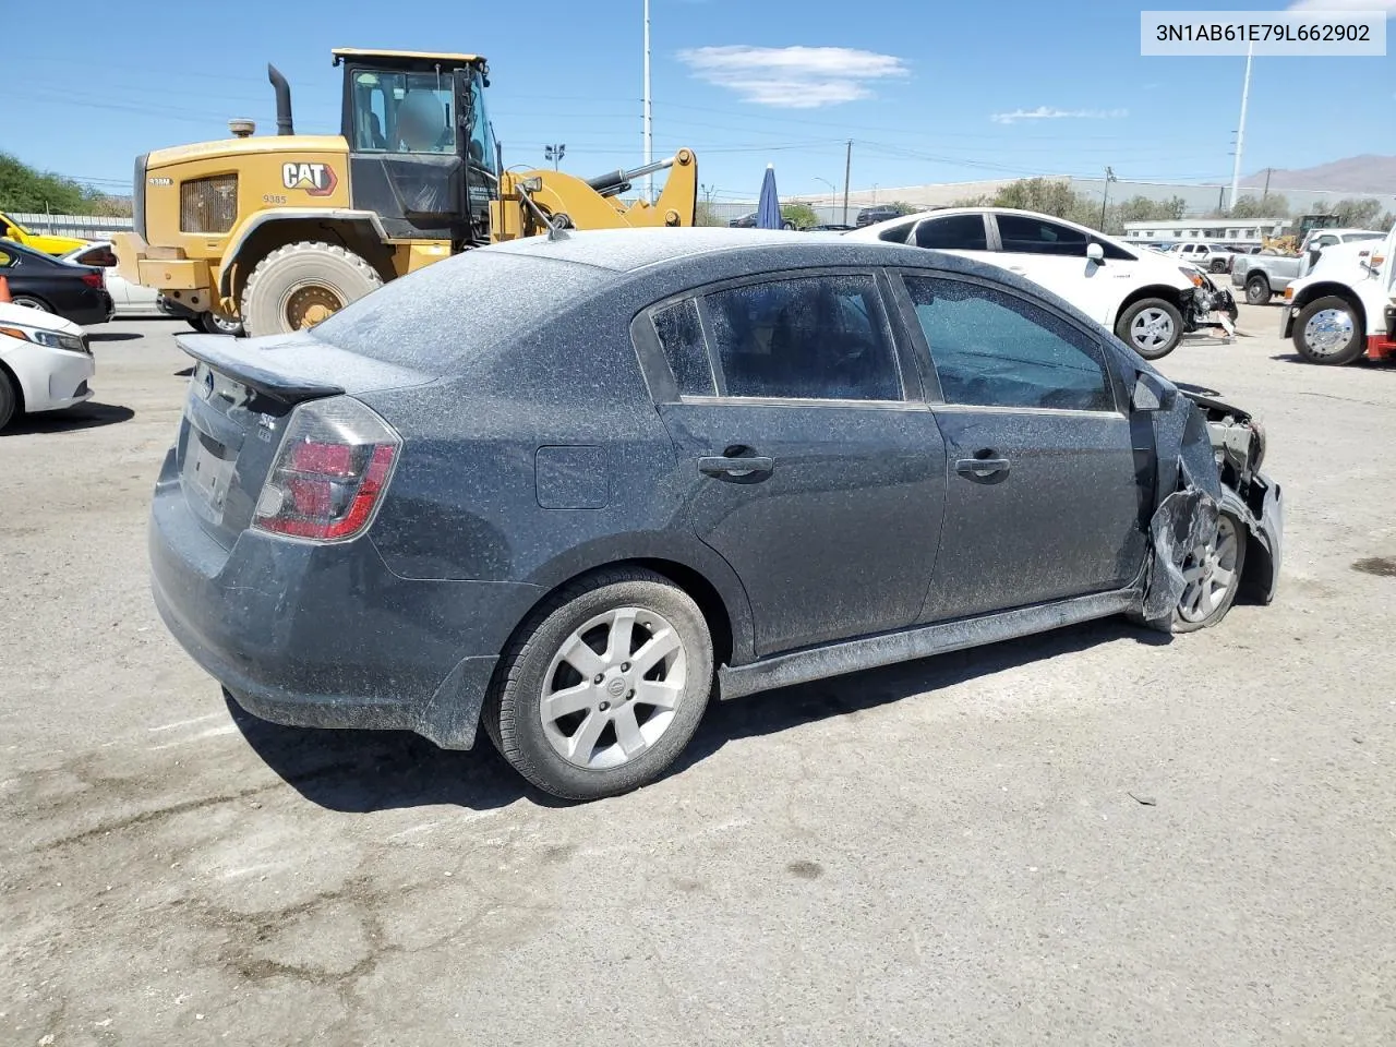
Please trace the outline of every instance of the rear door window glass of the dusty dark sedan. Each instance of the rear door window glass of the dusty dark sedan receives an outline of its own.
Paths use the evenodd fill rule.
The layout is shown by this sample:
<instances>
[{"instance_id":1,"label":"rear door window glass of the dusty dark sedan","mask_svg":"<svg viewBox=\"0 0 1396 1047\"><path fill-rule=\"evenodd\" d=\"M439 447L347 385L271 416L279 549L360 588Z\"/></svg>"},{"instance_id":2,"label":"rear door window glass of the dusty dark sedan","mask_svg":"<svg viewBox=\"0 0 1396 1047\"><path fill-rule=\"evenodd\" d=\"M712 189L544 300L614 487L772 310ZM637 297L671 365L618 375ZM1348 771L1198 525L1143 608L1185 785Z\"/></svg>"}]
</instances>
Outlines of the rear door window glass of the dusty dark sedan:
<instances>
[{"instance_id":1,"label":"rear door window glass of the dusty dark sedan","mask_svg":"<svg viewBox=\"0 0 1396 1047\"><path fill-rule=\"evenodd\" d=\"M870 275L811 276L706 297L729 396L902 399L902 377Z\"/></svg>"}]
</instances>

